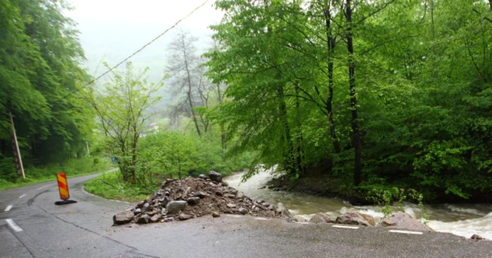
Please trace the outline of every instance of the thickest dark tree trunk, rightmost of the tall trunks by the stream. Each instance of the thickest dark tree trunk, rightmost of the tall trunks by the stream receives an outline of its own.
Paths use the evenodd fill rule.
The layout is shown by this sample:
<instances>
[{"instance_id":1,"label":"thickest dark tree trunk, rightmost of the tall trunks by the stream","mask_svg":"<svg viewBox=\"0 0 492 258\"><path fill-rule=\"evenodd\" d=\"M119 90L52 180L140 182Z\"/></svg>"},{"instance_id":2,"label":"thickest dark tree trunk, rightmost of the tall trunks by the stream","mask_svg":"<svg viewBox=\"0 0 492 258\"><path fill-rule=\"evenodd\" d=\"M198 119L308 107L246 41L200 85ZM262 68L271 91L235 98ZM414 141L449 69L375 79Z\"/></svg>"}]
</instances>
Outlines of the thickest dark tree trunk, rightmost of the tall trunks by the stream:
<instances>
[{"instance_id":1,"label":"thickest dark tree trunk, rightmost of the tall trunks by the stream","mask_svg":"<svg viewBox=\"0 0 492 258\"><path fill-rule=\"evenodd\" d=\"M347 17L347 48L349 50L349 89L350 89L350 107L352 115L352 142L354 144L354 185L361 184L361 172L362 172L362 140L358 128L358 114L357 114L357 97L356 97L356 72L354 64L354 42L352 39L352 9L351 0L346 1L346 13Z\"/></svg>"}]
</instances>

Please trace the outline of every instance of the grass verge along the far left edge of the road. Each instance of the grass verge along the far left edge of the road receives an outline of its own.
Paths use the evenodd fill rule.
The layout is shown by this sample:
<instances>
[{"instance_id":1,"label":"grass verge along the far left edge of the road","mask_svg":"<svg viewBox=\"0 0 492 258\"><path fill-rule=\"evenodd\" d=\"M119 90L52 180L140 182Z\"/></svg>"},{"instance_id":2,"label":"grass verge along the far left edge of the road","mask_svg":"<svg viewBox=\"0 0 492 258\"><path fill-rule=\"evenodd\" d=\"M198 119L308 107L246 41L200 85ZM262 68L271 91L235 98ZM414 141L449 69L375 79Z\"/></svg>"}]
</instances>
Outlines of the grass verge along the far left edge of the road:
<instances>
[{"instance_id":1,"label":"grass verge along the far left edge of the road","mask_svg":"<svg viewBox=\"0 0 492 258\"><path fill-rule=\"evenodd\" d=\"M25 168L25 179L18 178L14 182L0 178L0 191L20 186L28 186L41 182L56 180L56 173L65 172L67 177L79 177L98 172L104 172L112 168L111 163L105 158L77 158L66 161L63 170L58 163L45 165L43 167Z\"/></svg>"}]
</instances>

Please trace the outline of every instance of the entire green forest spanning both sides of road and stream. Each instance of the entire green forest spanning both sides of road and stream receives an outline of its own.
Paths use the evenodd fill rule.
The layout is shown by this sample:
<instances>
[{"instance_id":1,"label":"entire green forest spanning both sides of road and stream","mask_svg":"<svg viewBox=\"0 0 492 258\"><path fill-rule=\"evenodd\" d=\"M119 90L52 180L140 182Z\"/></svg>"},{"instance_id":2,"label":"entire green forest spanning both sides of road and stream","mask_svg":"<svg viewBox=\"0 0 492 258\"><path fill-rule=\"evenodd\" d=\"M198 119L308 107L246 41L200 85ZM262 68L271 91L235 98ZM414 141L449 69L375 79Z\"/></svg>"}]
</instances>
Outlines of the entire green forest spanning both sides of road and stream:
<instances>
[{"instance_id":1,"label":"entire green forest spanning both sides of road and stream","mask_svg":"<svg viewBox=\"0 0 492 258\"><path fill-rule=\"evenodd\" d=\"M130 62L93 81L63 3L0 3L4 182L12 114L27 168L90 144L138 193L264 164L342 196L492 201L492 1L218 0L212 46L179 32L158 82Z\"/></svg>"}]
</instances>

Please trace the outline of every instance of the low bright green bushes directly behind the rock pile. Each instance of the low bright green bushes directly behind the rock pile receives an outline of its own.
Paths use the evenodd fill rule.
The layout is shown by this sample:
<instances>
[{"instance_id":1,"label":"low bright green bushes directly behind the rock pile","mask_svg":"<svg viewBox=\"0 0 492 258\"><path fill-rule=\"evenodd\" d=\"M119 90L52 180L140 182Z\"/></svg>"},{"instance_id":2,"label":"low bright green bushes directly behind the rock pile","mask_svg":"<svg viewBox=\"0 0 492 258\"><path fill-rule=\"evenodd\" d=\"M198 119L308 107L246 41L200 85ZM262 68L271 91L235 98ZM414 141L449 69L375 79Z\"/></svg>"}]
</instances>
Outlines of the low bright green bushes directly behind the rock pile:
<instances>
[{"instance_id":1,"label":"low bright green bushes directly behind the rock pile","mask_svg":"<svg viewBox=\"0 0 492 258\"><path fill-rule=\"evenodd\" d=\"M224 158L224 150L216 139L198 137L194 133L146 135L138 151L141 184L160 184L163 178L196 177L210 170L230 175L252 162L247 154L234 159Z\"/></svg>"}]
</instances>

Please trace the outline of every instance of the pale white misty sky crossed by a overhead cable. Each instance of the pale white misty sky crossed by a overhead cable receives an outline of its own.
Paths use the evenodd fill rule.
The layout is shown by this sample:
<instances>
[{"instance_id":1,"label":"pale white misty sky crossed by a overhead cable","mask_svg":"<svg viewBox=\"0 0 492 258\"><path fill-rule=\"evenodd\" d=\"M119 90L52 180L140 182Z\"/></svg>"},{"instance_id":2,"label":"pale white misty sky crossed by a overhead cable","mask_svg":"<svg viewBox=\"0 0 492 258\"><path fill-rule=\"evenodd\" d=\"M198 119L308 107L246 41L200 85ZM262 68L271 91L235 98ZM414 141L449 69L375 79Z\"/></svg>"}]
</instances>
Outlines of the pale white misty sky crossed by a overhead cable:
<instances>
[{"instance_id":1,"label":"pale white misty sky crossed by a overhead cable","mask_svg":"<svg viewBox=\"0 0 492 258\"><path fill-rule=\"evenodd\" d=\"M188 15L205 0L68 0L75 10L67 15L74 19L81 32L80 41L87 58L90 74L101 74L103 67L96 67L105 60L114 65L155 36ZM222 14L212 6L213 0L180 23L179 28L200 38L205 50L210 43L212 31L209 25L219 23ZM164 34L152 45L132 58L136 67L150 67L150 79L163 74L166 63L166 48L176 29Z\"/></svg>"}]
</instances>

